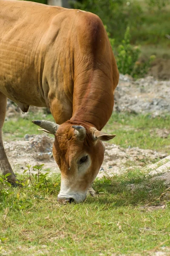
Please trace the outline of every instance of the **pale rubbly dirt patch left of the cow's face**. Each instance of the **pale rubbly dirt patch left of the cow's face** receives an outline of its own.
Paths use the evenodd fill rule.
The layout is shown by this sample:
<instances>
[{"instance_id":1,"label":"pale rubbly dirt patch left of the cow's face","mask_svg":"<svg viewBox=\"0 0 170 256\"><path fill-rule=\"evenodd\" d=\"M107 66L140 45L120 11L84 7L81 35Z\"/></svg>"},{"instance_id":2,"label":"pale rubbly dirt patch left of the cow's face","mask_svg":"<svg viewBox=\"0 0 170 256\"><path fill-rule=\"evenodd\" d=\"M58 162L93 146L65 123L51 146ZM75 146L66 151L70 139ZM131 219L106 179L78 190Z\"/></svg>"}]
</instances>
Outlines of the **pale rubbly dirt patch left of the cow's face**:
<instances>
[{"instance_id":1,"label":"pale rubbly dirt patch left of the cow's face","mask_svg":"<svg viewBox=\"0 0 170 256\"><path fill-rule=\"evenodd\" d=\"M46 135L28 135L24 140L4 142L4 147L9 162L14 172L22 173L26 164L32 166L45 164L44 169L51 169L51 172L59 172L52 154L53 139Z\"/></svg>"}]
</instances>

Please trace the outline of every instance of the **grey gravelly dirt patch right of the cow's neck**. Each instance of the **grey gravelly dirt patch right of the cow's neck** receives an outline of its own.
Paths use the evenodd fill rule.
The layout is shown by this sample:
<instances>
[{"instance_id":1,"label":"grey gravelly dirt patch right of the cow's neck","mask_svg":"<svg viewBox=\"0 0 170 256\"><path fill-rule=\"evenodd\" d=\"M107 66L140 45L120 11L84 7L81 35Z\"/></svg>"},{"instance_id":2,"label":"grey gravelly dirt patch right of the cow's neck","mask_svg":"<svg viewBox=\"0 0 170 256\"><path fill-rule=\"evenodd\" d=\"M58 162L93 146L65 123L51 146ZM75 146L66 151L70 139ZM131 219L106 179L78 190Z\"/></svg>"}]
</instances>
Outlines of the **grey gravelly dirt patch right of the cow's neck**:
<instances>
[{"instance_id":1,"label":"grey gravelly dirt patch right of the cow's neck","mask_svg":"<svg viewBox=\"0 0 170 256\"><path fill-rule=\"evenodd\" d=\"M115 110L130 113L170 113L170 80L158 81L152 76L133 79L120 74L115 91Z\"/></svg>"}]
</instances>

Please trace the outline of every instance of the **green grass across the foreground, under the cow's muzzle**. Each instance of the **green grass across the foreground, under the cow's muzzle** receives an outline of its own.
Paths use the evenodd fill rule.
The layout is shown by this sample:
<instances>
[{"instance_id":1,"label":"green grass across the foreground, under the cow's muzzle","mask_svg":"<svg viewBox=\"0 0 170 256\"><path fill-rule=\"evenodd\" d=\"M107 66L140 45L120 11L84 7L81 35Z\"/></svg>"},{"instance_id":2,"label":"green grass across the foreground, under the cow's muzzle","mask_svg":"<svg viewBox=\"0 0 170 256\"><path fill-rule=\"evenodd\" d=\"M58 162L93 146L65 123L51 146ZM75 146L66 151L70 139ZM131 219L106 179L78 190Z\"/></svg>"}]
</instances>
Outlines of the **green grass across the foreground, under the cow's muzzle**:
<instances>
[{"instance_id":1,"label":"green grass across the foreground, under the cow's muzzle","mask_svg":"<svg viewBox=\"0 0 170 256\"><path fill-rule=\"evenodd\" d=\"M47 179L48 190L20 179L25 187L0 197L0 255L150 255L170 247L170 197L147 172L103 177L94 182L97 197L66 205L57 202L59 177ZM149 211L160 203L166 208Z\"/></svg>"}]
</instances>

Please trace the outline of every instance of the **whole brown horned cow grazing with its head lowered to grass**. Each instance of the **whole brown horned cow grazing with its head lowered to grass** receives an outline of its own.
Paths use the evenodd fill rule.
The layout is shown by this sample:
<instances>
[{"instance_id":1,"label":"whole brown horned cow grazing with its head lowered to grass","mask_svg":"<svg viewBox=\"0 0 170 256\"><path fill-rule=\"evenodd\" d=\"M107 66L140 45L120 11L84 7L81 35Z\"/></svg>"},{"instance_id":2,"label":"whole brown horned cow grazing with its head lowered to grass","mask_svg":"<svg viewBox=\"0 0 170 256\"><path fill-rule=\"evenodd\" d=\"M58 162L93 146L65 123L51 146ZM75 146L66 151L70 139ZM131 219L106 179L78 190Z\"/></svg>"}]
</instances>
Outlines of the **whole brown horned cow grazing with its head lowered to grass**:
<instances>
[{"instance_id":1,"label":"whole brown horned cow grazing with its head lowered to grass","mask_svg":"<svg viewBox=\"0 0 170 256\"><path fill-rule=\"evenodd\" d=\"M102 132L113 111L119 72L98 16L77 9L0 0L0 167L16 177L6 157L2 127L7 98L23 112L49 107L56 123L33 120L54 134L61 171L58 201L85 200L104 157Z\"/></svg>"}]
</instances>

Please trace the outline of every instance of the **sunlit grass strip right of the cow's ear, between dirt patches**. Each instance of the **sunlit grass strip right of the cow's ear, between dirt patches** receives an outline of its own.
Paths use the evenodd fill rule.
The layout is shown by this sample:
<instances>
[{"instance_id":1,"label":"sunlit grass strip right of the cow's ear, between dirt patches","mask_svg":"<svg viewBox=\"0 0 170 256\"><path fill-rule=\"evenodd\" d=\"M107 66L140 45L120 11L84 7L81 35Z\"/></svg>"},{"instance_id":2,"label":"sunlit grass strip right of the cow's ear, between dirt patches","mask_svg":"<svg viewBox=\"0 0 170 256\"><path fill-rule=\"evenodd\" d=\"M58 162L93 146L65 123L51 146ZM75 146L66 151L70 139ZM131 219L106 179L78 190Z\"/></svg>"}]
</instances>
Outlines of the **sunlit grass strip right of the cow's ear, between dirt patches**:
<instances>
[{"instance_id":1,"label":"sunlit grass strip right of the cow's ear, between dirt patches","mask_svg":"<svg viewBox=\"0 0 170 256\"><path fill-rule=\"evenodd\" d=\"M113 113L104 130L116 134L112 143L122 147L139 147L170 153L170 135L161 138L157 129L170 129L170 115L153 118L150 114L133 115L129 113Z\"/></svg>"}]
</instances>

